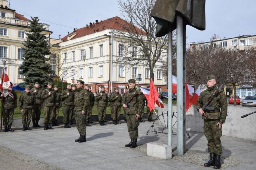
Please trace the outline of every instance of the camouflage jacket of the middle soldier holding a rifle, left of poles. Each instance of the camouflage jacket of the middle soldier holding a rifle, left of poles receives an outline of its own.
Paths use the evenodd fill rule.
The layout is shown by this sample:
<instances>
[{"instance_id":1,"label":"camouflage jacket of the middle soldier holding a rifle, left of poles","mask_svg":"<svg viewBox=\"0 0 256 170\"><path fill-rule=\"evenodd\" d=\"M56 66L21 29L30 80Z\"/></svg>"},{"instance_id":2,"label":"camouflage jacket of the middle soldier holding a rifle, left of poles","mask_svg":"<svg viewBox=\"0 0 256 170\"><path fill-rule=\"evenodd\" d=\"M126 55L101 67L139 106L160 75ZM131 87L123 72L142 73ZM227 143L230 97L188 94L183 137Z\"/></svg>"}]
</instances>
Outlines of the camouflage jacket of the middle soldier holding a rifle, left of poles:
<instances>
[{"instance_id":1,"label":"camouflage jacket of the middle soldier holding a rifle, left of poles","mask_svg":"<svg viewBox=\"0 0 256 170\"><path fill-rule=\"evenodd\" d=\"M133 94L135 93L136 93L135 88L129 89L129 91L126 92L126 95L123 95L122 105L126 104L126 102L128 102L130 98L133 96ZM141 96L140 95L134 96L132 101L130 102L130 105L133 105L133 106L128 106L127 114L128 115L139 114L141 116L142 107L144 108L144 101L142 101Z\"/></svg>"}]
</instances>

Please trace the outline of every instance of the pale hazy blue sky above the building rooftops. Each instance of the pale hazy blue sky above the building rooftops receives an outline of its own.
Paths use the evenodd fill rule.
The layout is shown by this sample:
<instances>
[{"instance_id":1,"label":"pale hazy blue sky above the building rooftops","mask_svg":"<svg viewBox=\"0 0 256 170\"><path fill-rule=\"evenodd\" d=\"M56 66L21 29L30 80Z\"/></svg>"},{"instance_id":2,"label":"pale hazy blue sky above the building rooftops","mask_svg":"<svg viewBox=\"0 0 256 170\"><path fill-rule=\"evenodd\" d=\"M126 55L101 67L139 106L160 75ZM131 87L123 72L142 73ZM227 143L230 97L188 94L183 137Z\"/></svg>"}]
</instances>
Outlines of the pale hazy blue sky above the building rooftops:
<instances>
[{"instance_id":1,"label":"pale hazy blue sky above the building rooftops","mask_svg":"<svg viewBox=\"0 0 256 170\"><path fill-rule=\"evenodd\" d=\"M59 39L74 28L85 27L95 20L120 16L117 0L10 0L11 9L30 19L50 24L51 38ZM214 34L219 38L256 35L254 0L206 0L206 30L187 25L187 41L207 42Z\"/></svg>"}]
</instances>

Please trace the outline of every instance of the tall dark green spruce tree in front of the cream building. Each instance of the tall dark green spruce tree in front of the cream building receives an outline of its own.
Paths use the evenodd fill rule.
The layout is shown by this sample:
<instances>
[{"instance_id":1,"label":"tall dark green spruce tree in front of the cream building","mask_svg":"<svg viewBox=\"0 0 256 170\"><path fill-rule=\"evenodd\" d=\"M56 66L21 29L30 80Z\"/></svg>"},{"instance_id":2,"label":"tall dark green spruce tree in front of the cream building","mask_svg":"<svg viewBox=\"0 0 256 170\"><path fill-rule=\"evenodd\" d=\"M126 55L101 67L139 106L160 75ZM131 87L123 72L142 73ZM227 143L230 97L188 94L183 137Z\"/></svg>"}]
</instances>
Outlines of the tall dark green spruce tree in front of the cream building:
<instances>
[{"instance_id":1,"label":"tall dark green spruce tree in front of the cream building","mask_svg":"<svg viewBox=\"0 0 256 170\"><path fill-rule=\"evenodd\" d=\"M20 74L25 76L23 81L27 85L34 85L39 82L41 85L47 85L52 82L52 78L48 76L52 73L48 64L50 54L49 37L43 34L43 24L39 23L38 17L31 17L30 30L26 31L26 40L23 42L23 62L20 65Z\"/></svg>"}]
</instances>

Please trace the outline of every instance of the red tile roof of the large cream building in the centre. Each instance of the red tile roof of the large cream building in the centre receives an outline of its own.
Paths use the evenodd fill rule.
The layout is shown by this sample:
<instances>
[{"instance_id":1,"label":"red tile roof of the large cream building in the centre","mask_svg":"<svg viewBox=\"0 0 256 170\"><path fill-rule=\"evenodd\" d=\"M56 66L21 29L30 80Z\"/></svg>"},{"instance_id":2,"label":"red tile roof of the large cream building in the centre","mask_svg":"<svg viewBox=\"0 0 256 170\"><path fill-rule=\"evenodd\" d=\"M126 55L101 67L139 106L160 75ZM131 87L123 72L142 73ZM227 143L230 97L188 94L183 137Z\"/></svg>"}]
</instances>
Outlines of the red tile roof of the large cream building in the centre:
<instances>
[{"instance_id":1,"label":"red tile roof of the large cream building in the centre","mask_svg":"<svg viewBox=\"0 0 256 170\"><path fill-rule=\"evenodd\" d=\"M96 20L95 23L88 24L88 26L86 27L79 28L73 31L72 33L69 33L68 35L64 36L61 40L67 41L68 36L74 33L75 33L75 36L73 36L71 39L76 39L76 38L86 36L95 32L107 30L109 28L126 31L124 28L124 25L127 25L127 24L129 25L129 27L132 26L129 22L126 22L125 20L121 19L118 16L115 16L113 18L106 19L100 22ZM136 29L136 31L139 33L146 34L143 30L139 29L138 27L134 27L134 29Z\"/></svg>"}]
</instances>

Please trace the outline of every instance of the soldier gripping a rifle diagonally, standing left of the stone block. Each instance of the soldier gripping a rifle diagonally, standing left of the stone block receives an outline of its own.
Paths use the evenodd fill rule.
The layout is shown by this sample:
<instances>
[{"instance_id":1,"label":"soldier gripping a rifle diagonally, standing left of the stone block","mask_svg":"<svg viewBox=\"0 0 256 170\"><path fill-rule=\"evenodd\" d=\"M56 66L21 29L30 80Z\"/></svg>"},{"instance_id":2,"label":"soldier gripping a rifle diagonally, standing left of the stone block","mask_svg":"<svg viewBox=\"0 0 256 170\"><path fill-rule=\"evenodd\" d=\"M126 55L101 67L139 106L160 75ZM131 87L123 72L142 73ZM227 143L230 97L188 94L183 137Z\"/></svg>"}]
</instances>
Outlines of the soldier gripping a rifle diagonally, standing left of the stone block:
<instances>
[{"instance_id":1,"label":"soldier gripping a rifle diagonally, standing left of the stone block","mask_svg":"<svg viewBox=\"0 0 256 170\"><path fill-rule=\"evenodd\" d=\"M135 79L128 80L129 91L123 97L122 103L123 107L127 108L126 119L127 119L127 128L130 135L131 142L126 144L125 147L136 148L137 139L139 137L139 118L141 117L141 110L144 102L139 95L133 97L131 102L126 105L126 103L131 99L133 94L136 94L135 88ZM144 106L143 106L144 107Z\"/></svg>"}]
</instances>

